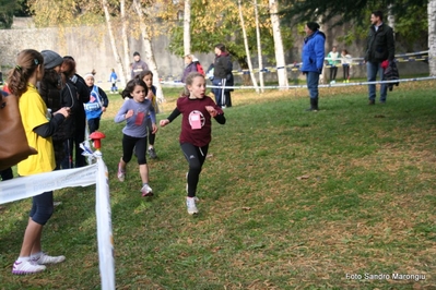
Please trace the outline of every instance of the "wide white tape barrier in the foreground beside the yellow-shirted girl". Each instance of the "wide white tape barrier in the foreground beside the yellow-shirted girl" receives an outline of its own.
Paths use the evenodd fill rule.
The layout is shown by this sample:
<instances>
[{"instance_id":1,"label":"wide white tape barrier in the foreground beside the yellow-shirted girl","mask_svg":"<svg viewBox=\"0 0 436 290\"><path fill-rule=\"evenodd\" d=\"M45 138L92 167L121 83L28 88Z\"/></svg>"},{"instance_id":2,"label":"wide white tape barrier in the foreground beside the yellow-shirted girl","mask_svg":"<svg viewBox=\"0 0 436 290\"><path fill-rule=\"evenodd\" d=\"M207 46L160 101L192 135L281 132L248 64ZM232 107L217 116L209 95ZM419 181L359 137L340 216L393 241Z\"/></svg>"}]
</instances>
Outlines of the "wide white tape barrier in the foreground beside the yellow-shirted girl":
<instances>
[{"instance_id":1,"label":"wide white tape barrier in the foreground beside the yellow-shirted girl","mask_svg":"<svg viewBox=\"0 0 436 290\"><path fill-rule=\"evenodd\" d=\"M109 174L99 152L97 162L74 169L57 170L0 182L0 204L11 203L64 188L96 184L95 213L99 274L103 290L115 290L114 237L109 196Z\"/></svg>"}]
</instances>

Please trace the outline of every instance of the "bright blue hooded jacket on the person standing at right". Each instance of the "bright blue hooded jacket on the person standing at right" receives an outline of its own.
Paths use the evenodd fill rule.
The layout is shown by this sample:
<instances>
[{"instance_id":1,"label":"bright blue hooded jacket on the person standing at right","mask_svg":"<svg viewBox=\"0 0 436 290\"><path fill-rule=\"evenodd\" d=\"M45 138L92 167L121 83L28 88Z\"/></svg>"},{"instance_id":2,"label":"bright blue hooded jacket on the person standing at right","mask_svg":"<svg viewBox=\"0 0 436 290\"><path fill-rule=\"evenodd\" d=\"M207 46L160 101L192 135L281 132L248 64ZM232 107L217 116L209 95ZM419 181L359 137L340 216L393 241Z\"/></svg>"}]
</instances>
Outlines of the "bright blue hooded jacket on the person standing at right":
<instances>
[{"instance_id":1,"label":"bright blue hooded jacket on the person standing at right","mask_svg":"<svg viewBox=\"0 0 436 290\"><path fill-rule=\"evenodd\" d=\"M316 31L304 39L302 59L302 72L322 72L326 35Z\"/></svg>"}]
</instances>

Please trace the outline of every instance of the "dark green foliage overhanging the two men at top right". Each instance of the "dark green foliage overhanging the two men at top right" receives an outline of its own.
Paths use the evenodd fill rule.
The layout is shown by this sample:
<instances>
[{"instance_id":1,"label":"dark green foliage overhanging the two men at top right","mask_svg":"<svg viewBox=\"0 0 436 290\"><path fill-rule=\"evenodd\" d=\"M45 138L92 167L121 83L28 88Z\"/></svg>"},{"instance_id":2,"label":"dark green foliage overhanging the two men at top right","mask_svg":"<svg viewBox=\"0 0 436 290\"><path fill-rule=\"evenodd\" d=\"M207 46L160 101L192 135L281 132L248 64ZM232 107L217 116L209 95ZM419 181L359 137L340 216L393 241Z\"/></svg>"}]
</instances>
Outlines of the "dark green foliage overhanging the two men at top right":
<instances>
[{"instance_id":1,"label":"dark green foliage overhanging the two men at top right","mask_svg":"<svg viewBox=\"0 0 436 290\"><path fill-rule=\"evenodd\" d=\"M370 12L381 10L385 22L388 14L394 17L397 40L413 51L413 44L426 44L427 35L427 0L283 0L281 14L292 23L316 21L330 23L333 26L347 25L349 33L339 40L351 44L366 35ZM425 45L424 45L425 47Z\"/></svg>"}]
</instances>

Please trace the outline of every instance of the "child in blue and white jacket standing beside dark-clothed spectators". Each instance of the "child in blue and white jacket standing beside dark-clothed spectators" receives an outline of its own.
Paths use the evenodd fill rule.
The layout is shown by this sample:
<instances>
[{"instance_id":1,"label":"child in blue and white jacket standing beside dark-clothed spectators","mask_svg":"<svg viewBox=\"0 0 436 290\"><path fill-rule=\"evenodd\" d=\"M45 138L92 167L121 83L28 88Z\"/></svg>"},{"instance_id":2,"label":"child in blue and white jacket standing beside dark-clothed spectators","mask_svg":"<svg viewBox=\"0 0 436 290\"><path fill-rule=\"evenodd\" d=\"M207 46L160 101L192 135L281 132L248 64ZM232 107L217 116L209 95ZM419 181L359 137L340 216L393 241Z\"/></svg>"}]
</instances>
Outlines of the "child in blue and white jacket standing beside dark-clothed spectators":
<instances>
[{"instance_id":1,"label":"child in blue and white jacket standing beside dark-clothed spectators","mask_svg":"<svg viewBox=\"0 0 436 290\"><path fill-rule=\"evenodd\" d=\"M98 130L99 119L102 118L103 112L106 111L106 108L109 105L109 99L101 87L94 85L94 74L85 74L84 78L91 92L90 101L84 104L87 126L91 134L92 132Z\"/></svg>"}]
</instances>

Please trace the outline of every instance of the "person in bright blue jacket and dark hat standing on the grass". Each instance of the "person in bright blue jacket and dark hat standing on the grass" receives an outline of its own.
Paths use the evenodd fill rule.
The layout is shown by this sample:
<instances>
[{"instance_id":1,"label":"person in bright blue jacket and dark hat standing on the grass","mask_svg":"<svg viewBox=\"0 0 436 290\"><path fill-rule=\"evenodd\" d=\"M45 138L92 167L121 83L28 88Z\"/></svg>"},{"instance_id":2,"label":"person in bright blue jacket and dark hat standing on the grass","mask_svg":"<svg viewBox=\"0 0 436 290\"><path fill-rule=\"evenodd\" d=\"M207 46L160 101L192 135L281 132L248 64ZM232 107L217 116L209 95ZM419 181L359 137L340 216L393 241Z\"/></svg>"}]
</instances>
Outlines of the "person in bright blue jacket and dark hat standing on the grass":
<instances>
[{"instance_id":1,"label":"person in bright blue jacket and dark hat standing on the grass","mask_svg":"<svg viewBox=\"0 0 436 290\"><path fill-rule=\"evenodd\" d=\"M316 22L308 22L304 29L307 37L304 39L301 71L306 74L310 96L310 108L307 110L318 111L318 83L326 56L326 35L319 31L319 24Z\"/></svg>"}]
</instances>

